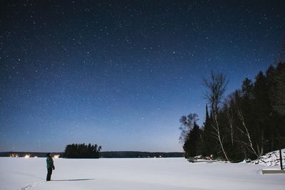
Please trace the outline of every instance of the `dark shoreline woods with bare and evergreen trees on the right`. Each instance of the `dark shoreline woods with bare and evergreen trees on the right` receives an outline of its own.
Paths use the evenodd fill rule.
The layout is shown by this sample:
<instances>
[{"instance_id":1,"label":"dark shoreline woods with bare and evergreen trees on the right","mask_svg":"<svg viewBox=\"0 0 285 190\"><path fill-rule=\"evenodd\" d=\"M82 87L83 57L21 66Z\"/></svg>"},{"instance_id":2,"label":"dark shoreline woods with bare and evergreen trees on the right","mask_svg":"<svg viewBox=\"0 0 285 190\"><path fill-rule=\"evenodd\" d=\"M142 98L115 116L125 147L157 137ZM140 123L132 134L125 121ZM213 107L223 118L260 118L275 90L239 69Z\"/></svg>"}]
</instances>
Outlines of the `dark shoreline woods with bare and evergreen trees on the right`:
<instances>
[{"instance_id":1,"label":"dark shoreline woods with bare and evergreen trees on the right","mask_svg":"<svg viewBox=\"0 0 285 190\"><path fill-rule=\"evenodd\" d=\"M197 125L196 114L180 119L187 159L213 154L238 162L285 147L285 61L270 65L265 74L259 72L254 81L245 78L241 88L227 97L224 74L212 72L203 83L207 89L203 125Z\"/></svg>"}]
</instances>

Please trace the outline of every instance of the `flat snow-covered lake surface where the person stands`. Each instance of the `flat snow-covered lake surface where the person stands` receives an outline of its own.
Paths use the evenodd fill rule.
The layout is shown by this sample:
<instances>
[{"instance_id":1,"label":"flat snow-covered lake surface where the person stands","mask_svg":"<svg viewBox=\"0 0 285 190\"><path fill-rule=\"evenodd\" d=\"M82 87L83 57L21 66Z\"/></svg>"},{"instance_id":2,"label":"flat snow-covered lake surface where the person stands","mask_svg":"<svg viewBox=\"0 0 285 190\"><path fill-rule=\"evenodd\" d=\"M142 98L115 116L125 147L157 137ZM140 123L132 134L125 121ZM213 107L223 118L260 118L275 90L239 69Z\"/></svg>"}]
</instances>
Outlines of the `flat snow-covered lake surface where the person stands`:
<instances>
[{"instance_id":1,"label":"flat snow-covered lake surface where the person stands","mask_svg":"<svg viewBox=\"0 0 285 190\"><path fill-rule=\"evenodd\" d=\"M253 164L189 163L168 159L54 159L46 182L46 159L0 158L0 189L284 189L284 174L261 174Z\"/></svg>"}]
</instances>

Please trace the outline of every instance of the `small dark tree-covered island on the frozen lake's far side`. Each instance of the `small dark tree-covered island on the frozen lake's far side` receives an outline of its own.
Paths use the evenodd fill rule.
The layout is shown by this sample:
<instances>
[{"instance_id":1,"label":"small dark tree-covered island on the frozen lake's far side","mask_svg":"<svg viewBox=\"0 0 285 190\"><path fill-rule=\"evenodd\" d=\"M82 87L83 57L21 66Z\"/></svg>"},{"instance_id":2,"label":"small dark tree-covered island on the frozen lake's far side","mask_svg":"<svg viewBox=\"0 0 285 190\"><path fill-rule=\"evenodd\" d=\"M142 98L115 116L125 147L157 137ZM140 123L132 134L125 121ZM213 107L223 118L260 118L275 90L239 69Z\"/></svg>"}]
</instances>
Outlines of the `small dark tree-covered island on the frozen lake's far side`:
<instances>
[{"instance_id":1,"label":"small dark tree-covered island on the frozen lake's far side","mask_svg":"<svg viewBox=\"0 0 285 190\"><path fill-rule=\"evenodd\" d=\"M99 158L102 147L97 144L68 144L63 153L65 158Z\"/></svg>"}]
</instances>

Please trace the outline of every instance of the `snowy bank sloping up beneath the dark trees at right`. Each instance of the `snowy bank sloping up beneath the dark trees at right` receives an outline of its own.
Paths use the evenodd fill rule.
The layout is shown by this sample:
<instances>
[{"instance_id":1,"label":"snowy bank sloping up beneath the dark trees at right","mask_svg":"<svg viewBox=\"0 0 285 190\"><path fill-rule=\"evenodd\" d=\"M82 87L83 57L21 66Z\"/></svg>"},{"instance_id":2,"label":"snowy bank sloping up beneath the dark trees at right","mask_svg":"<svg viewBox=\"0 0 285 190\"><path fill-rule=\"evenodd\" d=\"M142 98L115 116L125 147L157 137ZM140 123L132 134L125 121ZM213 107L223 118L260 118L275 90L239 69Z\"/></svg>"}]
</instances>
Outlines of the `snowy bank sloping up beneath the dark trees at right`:
<instances>
[{"instance_id":1,"label":"snowy bank sloping up beneath the dark trees at right","mask_svg":"<svg viewBox=\"0 0 285 190\"><path fill-rule=\"evenodd\" d=\"M284 164L285 164L285 149L281 149L281 153L282 153L282 164L284 166ZM250 163L262 164L264 166L280 166L279 150L264 154L263 156L260 157L260 159L256 159Z\"/></svg>"}]
</instances>

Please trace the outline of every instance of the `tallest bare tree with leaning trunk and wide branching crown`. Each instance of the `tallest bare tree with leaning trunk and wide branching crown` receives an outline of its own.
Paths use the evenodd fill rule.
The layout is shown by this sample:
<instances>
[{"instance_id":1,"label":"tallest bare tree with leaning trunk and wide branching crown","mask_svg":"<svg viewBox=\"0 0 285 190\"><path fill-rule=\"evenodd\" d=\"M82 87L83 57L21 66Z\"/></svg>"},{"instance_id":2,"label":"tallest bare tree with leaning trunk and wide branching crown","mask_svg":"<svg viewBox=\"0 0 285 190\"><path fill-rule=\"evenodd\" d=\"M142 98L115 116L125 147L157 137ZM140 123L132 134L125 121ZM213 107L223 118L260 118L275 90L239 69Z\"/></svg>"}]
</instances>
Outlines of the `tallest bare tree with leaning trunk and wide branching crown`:
<instances>
[{"instance_id":1,"label":"tallest bare tree with leaning trunk and wide branching crown","mask_svg":"<svg viewBox=\"0 0 285 190\"><path fill-rule=\"evenodd\" d=\"M206 87L206 91L204 93L206 99L208 100L209 104L211 105L211 112L212 112L212 127L214 129L214 137L219 141L219 145L224 153L224 157L229 160L227 157L226 150L224 149L224 145L222 142L222 134L219 127L219 107L222 103L222 99L224 97L224 93L226 91L228 80L226 76L222 73L214 73L211 71L211 75L209 80L204 79L203 85Z\"/></svg>"}]
</instances>

